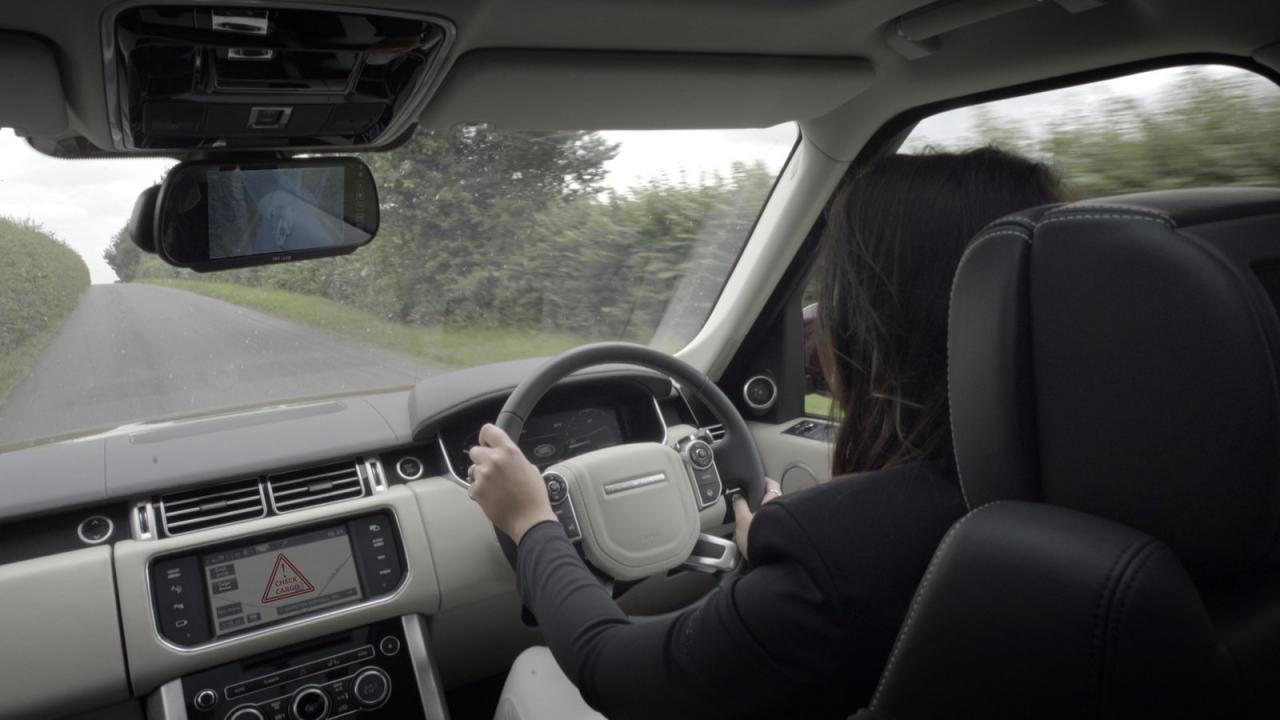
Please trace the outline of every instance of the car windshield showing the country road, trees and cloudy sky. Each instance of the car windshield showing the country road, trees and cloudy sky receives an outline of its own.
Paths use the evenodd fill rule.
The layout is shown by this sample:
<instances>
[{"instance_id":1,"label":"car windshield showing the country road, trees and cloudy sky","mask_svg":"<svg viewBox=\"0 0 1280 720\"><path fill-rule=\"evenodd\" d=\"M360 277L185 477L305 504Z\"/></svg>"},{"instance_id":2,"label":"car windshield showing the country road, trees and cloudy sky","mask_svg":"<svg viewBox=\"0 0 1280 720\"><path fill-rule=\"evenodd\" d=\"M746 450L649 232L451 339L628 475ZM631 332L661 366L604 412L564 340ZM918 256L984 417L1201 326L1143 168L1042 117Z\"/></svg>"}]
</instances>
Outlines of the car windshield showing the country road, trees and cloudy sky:
<instances>
[{"instance_id":1,"label":"car windshield showing the country road, trees and cloudy sky","mask_svg":"<svg viewBox=\"0 0 1280 720\"><path fill-rule=\"evenodd\" d=\"M352 255L197 274L127 229L163 159L59 160L0 135L0 450L399 388L701 328L794 124L419 131L367 154L381 229Z\"/></svg>"}]
</instances>

